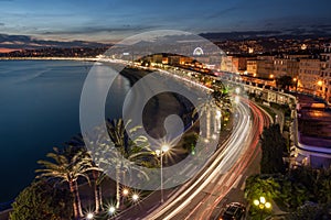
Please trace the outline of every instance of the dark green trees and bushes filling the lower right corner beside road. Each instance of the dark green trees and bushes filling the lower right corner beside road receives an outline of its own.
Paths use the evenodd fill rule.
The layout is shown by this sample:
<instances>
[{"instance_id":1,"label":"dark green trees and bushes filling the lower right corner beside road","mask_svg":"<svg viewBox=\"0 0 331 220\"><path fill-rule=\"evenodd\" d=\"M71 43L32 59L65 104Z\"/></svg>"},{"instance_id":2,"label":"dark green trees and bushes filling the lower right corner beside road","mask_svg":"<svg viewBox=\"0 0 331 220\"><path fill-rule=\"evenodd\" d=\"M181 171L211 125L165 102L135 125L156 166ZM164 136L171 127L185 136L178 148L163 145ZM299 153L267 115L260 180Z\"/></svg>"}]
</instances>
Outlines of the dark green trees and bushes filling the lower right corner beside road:
<instances>
[{"instance_id":1,"label":"dark green trees and bushes filling the lower right corner beside road","mask_svg":"<svg viewBox=\"0 0 331 220\"><path fill-rule=\"evenodd\" d=\"M331 167L316 169L302 166L286 169L282 156L288 156L288 153L277 124L265 128L261 134L261 174L250 176L246 180L245 197L249 205L254 199L264 196L288 212L288 219L330 218ZM249 209L253 219L257 217L258 211L254 206ZM309 215L305 216L306 211L309 211Z\"/></svg>"}]
</instances>

